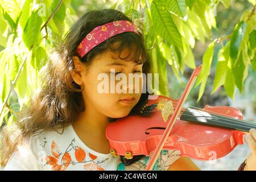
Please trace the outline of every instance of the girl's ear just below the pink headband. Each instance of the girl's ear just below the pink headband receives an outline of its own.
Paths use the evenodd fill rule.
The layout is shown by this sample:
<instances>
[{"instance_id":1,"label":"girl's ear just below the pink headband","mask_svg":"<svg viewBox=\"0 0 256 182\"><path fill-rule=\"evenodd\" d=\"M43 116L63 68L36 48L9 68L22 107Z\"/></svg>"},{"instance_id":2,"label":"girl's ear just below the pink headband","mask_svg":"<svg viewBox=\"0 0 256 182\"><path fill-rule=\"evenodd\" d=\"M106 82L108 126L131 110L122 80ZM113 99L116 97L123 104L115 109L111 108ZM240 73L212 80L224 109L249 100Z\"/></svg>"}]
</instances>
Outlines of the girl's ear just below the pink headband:
<instances>
[{"instance_id":1,"label":"girl's ear just below the pink headband","mask_svg":"<svg viewBox=\"0 0 256 182\"><path fill-rule=\"evenodd\" d=\"M73 81L76 82L77 85L82 85L82 72L85 70L82 61L77 56L73 56L73 63L75 65L75 69L71 72L71 77Z\"/></svg>"}]
</instances>

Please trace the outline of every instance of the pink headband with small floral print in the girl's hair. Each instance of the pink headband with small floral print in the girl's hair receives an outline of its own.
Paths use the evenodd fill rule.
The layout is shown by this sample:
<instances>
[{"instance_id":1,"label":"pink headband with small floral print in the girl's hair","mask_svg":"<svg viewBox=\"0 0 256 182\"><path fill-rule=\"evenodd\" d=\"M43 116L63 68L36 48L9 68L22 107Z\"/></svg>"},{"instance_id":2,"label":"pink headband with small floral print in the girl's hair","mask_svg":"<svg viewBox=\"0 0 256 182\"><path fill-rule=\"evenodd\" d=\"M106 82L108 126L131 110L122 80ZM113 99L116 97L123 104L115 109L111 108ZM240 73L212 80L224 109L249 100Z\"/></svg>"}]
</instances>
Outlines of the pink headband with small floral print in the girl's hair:
<instances>
[{"instance_id":1,"label":"pink headband with small floral print in the girl's hair","mask_svg":"<svg viewBox=\"0 0 256 182\"><path fill-rule=\"evenodd\" d=\"M84 40L82 40L77 47L76 52L80 57L84 57L84 55L86 55L90 49L111 38L112 36L121 34L123 32L135 32L138 34L134 24L127 20L118 20L98 26L94 28L88 35L86 35Z\"/></svg>"}]
</instances>

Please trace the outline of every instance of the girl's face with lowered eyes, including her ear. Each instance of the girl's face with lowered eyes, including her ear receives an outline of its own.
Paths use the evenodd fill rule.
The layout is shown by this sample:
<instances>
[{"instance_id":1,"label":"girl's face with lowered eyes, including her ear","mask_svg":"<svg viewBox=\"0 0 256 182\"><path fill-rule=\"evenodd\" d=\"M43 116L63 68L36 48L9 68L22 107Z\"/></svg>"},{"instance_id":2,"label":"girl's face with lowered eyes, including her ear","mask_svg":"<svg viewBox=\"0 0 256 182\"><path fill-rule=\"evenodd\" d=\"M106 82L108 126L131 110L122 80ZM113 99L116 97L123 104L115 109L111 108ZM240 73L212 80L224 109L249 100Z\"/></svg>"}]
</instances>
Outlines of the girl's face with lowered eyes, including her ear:
<instances>
[{"instance_id":1,"label":"girl's face with lowered eyes, including her ear","mask_svg":"<svg viewBox=\"0 0 256 182\"><path fill-rule=\"evenodd\" d=\"M127 56L129 53L127 51L128 49L124 49L121 57ZM143 64L137 64L133 60L119 59L118 55L119 53L105 51L96 56L89 66L82 64L77 58L73 59L77 72L72 73L72 78L81 85L85 109L86 107L93 108L111 118L121 118L128 115L138 103L142 93ZM134 73L141 76L138 78L138 82L134 78L129 79L129 75L133 76L131 74ZM120 79L123 84L117 80L117 77L121 75L126 76L126 80ZM118 93L117 89L119 90ZM105 93L102 93L102 90Z\"/></svg>"}]
</instances>

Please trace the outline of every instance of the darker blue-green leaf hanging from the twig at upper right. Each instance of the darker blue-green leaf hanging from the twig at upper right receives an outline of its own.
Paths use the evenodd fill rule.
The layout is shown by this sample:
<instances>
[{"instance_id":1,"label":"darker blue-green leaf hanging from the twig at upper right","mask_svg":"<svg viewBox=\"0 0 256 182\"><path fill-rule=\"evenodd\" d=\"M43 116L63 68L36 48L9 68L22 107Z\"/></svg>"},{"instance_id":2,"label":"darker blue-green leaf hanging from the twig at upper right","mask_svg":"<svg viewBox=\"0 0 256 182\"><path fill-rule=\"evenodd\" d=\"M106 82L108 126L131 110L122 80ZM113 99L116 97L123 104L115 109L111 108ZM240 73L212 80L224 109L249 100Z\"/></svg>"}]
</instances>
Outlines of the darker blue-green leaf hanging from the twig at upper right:
<instances>
[{"instance_id":1,"label":"darker blue-green leaf hanging from the twig at upper right","mask_svg":"<svg viewBox=\"0 0 256 182\"><path fill-rule=\"evenodd\" d=\"M230 40L230 57L235 63L238 55L238 51L240 50L240 46L243 40L243 37L245 36L245 30L246 30L246 22L242 21L237 24L237 26L234 28L231 40Z\"/></svg>"}]
</instances>

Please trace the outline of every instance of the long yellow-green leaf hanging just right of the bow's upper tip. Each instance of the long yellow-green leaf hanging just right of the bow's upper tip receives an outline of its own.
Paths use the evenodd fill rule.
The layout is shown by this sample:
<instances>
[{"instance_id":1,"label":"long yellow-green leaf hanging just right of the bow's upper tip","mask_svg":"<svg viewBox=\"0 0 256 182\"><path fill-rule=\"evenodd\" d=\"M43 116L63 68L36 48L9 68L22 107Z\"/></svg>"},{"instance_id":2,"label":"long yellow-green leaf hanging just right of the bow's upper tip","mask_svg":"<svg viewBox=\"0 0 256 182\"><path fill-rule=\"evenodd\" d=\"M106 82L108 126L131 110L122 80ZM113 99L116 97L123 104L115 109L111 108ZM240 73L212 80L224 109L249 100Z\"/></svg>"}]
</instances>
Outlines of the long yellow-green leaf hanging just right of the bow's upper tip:
<instances>
[{"instance_id":1,"label":"long yellow-green leaf hanging just right of the bow's upper tip","mask_svg":"<svg viewBox=\"0 0 256 182\"><path fill-rule=\"evenodd\" d=\"M199 76L197 78L197 83L196 83L196 86L198 86L201 83L197 102L203 96L205 85L207 83L207 78L208 78L208 75L210 74L210 65L212 64L213 48L214 48L214 42L209 44L203 56L202 69L201 69L201 72L199 73Z\"/></svg>"}]
</instances>

